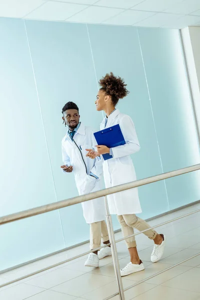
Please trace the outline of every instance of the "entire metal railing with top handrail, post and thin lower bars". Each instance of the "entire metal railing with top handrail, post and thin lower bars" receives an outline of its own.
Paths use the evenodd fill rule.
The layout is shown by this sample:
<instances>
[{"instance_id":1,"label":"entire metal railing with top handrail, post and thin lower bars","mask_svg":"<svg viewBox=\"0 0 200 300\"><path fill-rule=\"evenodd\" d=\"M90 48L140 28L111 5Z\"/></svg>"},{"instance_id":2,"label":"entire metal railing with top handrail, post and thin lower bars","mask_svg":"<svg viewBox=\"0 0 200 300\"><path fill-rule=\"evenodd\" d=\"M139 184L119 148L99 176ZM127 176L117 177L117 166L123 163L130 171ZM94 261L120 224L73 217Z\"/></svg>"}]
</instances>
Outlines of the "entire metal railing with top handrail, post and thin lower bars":
<instances>
[{"instance_id":1,"label":"entire metal railing with top handrail, post and thin lower bars","mask_svg":"<svg viewBox=\"0 0 200 300\"><path fill-rule=\"evenodd\" d=\"M112 221L111 221L111 216L109 214L109 209L108 209L108 205L107 205L107 197L106 197L106 195L112 194L112 193L115 193L115 192L119 192L119 191L123 191L123 190L126 190L126 189L131 189L131 188L134 188L134 187L137 187L137 186L149 184L149 183L156 182L156 181L159 181L159 180L167 179L167 178L170 178L170 177L178 176L178 175L185 174L185 173L188 173L188 172L192 172L192 171L195 171L195 170L198 170L198 169L200 169L200 164L191 165L191 166L188 166L188 167L185 167L185 168L182 168L182 169L178 169L178 170L166 172L166 173L163 173L163 174L151 176L151 177L140 179L140 180L135 180L135 181L132 181L132 182L129 182L129 183L125 183L125 184L121 184L121 185L109 187L109 188L106 188L106 189L98 190L98 191L95 191L95 192L92 192L92 193L89 193L89 194L85 194L85 195L73 197L73 198L62 200L62 201L58 201L58 202L53 202L53 203L42 205L42 206L39 206L39 207L35 207L35 208L23 210L23 211L20 211L20 212L17 212L17 213L12 213L12 214L0 217L0 225L8 223L8 222L15 221L15 220L19 220L19 219L22 219L22 218L30 217L30 216L41 214L41 213L45 213L45 212L48 212L48 211L52 211L52 210L55 210L55 209L63 208L63 207L66 207L66 206L70 206L70 205L73 205L73 204L77 204L77 203L80 203L80 202L84 202L84 201L88 201L88 200L91 200L91 199L94 199L94 198L98 198L98 197L104 196L105 208L106 208L106 220L107 220L107 223L108 223L109 238L110 238L110 241L111 241L109 243L109 245L111 245L113 262L114 262L114 269L115 269L115 275L116 275L116 280L117 280L117 285L118 285L118 292L115 293L115 294L113 294L113 295L111 295L111 296L109 296L109 297L107 297L104 300L110 299L113 296L115 296L116 294L119 294L120 299L124 300L125 299L124 298L124 291L125 290L127 290L127 289L129 289L129 288L131 288L131 287L133 287L133 286L141 283L141 282L144 282L144 281L146 281L146 280L148 280L148 279L150 279L150 278L152 278L152 277L154 277L154 276L156 276L156 275L164 272L165 270L168 270L168 269L170 269L170 268L172 268L172 267L174 267L174 266L176 266L176 265L178 265L178 264L180 264L180 263L182 263L184 261L187 261L190 258L197 256L198 254L196 254L196 255L194 255L192 257L189 257L189 258L185 259L184 261L181 261L180 263L178 263L178 264L176 264L174 266L171 266L171 267L169 267L169 268L167 268L167 269L165 269L165 270L163 270L161 272L153 274L149 278L141 280L141 281L139 281L139 282L137 282L137 283L135 283L135 284L133 284L133 285L131 285L131 286L123 289L123 285L122 285L122 281L121 281L121 276L120 276L119 263L118 263L118 256L117 256L117 251L116 251L116 242L122 241L122 240L127 239L127 238L129 238L131 236L143 233L143 232L149 230L149 228L145 229L145 230L142 230L140 232L131 234L129 236L125 236L125 237L120 238L118 240L115 240L113 226L112 226ZM190 212L190 213L187 213L185 215L179 216L179 217L174 218L172 220L166 221L164 223L155 225L155 226L153 226L151 228L155 228L155 227L167 224L169 222L172 222L174 220L177 220L177 219L180 219L182 217L188 216L188 215L190 215L192 213L195 213L195 212L198 212L198 211L200 211L200 209L198 209L196 211L193 211L193 212ZM103 245L103 246L101 246L99 248L96 248L94 250L103 248L105 246L107 246L107 244ZM92 251L94 251L94 250L92 250ZM70 260L75 259L77 257L83 256L83 255L85 255L85 254L87 254L89 252L90 251L87 251L85 253L79 254L79 255L74 256L72 258L69 258L69 259L66 259L64 261L58 262L58 263L56 263L54 265L48 266L48 267L46 267L44 269L40 269L38 271L35 271L34 273L27 274L27 275L25 275L23 277L20 277L20 278L14 279L12 281L6 282L6 283L0 285L0 287L8 285L8 284L16 282L16 281L19 281L19 280L24 279L26 277L29 277L29 276L31 276L33 274L40 273L40 272L42 272L44 270L50 269L50 268L52 268L54 266L57 266L57 265L60 265L60 264L62 264L64 262L67 262L67 261L70 261Z\"/></svg>"}]
</instances>

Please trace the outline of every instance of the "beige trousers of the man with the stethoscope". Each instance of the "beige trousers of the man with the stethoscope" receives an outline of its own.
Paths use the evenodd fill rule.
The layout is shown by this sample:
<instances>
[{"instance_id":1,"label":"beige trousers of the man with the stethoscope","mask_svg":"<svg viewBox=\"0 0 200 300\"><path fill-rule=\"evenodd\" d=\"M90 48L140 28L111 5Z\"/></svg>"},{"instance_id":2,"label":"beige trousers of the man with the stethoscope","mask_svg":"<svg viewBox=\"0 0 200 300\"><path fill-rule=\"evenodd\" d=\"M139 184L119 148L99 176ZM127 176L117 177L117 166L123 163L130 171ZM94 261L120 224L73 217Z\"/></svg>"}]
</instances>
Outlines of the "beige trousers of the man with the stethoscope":
<instances>
[{"instance_id":1,"label":"beige trousers of the man with the stethoscope","mask_svg":"<svg viewBox=\"0 0 200 300\"><path fill-rule=\"evenodd\" d=\"M90 249L100 247L102 241L109 240L107 225L105 221L95 222L90 224Z\"/></svg>"}]
</instances>

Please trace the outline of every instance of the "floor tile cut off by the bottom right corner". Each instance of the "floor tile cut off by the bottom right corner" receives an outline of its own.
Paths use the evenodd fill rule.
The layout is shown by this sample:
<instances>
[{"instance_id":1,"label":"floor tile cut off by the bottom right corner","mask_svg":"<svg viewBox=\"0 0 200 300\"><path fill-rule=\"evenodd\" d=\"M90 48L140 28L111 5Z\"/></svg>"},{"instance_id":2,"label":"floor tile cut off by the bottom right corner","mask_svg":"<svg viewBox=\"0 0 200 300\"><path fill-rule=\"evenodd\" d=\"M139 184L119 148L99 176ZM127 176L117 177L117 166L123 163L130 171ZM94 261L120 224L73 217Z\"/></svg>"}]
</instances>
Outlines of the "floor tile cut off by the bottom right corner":
<instances>
[{"instance_id":1,"label":"floor tile cut off by the bottom right corner","mask_svg":"<svg viewBox=\"0 0 200 300\"><path fill-rule=\"evenodd\" d=\"M192 291L185 291L182 289L171 288L167 286L158 285L137 297L134 300L199 300L200 294Z\"/></svg>"}]
</instances>

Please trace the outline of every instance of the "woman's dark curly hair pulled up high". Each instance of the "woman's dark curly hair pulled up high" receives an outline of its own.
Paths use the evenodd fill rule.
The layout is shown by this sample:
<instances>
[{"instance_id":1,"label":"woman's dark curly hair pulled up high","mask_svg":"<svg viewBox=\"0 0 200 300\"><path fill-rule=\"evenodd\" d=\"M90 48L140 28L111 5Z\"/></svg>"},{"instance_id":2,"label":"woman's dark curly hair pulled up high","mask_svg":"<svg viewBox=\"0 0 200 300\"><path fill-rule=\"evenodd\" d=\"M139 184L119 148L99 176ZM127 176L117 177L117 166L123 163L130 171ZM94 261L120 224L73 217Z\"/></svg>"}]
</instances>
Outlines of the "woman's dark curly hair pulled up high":
<instances>
[{"instance_id":1,"label":"woman's dark curly hair pulled up high","mask_svg":"<svg viewBox=\"0 0 200 300\"><path fill-rule=\"evenodd\" d=\"M107 73L98 83L101 86L100 89L111 96L114 105L117 104L119 99L122 99L129 93L125 87L127 84L124 83L124 80L119 76L114 76L112 72Z\"/></svg>"}]
</instances>

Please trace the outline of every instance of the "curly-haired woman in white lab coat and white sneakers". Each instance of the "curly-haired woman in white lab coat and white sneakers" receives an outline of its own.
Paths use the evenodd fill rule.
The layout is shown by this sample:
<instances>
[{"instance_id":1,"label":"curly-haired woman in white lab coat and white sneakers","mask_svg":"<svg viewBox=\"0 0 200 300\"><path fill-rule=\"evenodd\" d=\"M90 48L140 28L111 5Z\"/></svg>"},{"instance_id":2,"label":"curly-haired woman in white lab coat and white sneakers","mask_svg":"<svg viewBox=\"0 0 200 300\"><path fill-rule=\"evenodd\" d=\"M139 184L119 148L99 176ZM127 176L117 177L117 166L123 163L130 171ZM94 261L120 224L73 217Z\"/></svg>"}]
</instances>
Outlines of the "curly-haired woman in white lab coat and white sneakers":
<instances>
[{"instance_id":1,"label":"curly-haired woman in white lab coat and white sneakers","mask_svg":"<svg viewBox=\"0 0 200 300\"><path fill-rule=\"evenodd\" d=\"M123 79L110 73L101 78L99 84L101 88L96 96L96 110L104 110L106 114L100 124L100 129L119 124L125 144L114 148L98 145L98 153L90 149L87 156L92 158L101 155L103 159L102 154L109 153L112 155L112 158L103 160L105 186L111 187L136 180L134 166L129 155L137 152L140 147L132 119L115 109L118 100L128 93ZM110 213L117 215L123 236L133 234L133 228L140 231L150 228L144 220L135 215L135 213L141 212L137 188L108 195L107 199ZM144 234L154 241L151 261L156 262L163 255L165 236L158 234L153 229L145 231ZM137 253L135 237L127 238L126 244L130 254L130 262L121 269L121 276L144 269Z\"/></svg>"}]
</instances>

